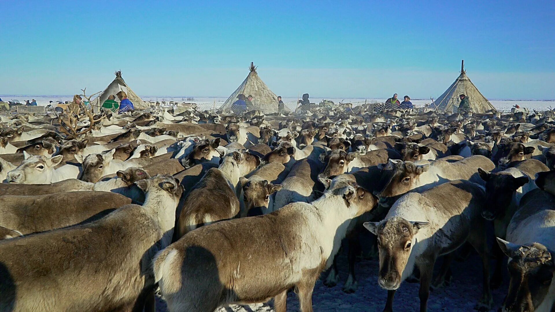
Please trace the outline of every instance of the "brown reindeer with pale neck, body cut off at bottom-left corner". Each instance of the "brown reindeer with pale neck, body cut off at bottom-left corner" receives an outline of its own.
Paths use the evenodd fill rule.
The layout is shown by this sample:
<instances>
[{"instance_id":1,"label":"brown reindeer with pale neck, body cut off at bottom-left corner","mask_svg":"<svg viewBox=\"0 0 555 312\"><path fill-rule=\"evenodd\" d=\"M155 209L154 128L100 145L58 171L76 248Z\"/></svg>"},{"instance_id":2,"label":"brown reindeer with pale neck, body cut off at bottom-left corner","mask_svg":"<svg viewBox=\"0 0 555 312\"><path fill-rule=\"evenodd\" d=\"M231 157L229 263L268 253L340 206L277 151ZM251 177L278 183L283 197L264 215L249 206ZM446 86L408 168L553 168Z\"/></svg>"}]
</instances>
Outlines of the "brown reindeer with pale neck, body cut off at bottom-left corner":
<instances>
[{"instance_id":1,"label":"brown reindeer with pale neck, body cut off at bottom-left corner","mask_svg":"<svg viewBox=\"0 0 555 312\"><path fill-rule=\"evenodd\" d=\"M142 311L146 302L154 311L150 262L170 244L183 189L171 176L136 184L145 192L142 206L125 205L92 223L4 240L0 310Z\"/></svg>"}]
</instances>

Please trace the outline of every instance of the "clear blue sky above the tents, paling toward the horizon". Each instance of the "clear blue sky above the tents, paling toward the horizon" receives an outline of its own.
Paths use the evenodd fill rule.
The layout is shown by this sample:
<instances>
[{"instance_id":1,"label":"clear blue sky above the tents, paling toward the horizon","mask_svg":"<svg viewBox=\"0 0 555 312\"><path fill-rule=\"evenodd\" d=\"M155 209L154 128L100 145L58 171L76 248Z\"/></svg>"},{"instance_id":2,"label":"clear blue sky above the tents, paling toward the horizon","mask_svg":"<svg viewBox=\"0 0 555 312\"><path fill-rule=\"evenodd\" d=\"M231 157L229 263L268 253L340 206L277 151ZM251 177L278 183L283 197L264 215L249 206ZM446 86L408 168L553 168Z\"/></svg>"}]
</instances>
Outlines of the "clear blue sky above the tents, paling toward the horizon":
<instances>
[{"instance_id":1,"label":"clear blue sky above the tents, paling toward the horizon","mask_svg":"<svg viewBox=\"0 0 555 312\"><path fill-rule=\"evenodd\" d=\"M226 96L249 63L296 97L555 99L555 1L0 0L0 94Z\"/></svg>"}]
</instances>

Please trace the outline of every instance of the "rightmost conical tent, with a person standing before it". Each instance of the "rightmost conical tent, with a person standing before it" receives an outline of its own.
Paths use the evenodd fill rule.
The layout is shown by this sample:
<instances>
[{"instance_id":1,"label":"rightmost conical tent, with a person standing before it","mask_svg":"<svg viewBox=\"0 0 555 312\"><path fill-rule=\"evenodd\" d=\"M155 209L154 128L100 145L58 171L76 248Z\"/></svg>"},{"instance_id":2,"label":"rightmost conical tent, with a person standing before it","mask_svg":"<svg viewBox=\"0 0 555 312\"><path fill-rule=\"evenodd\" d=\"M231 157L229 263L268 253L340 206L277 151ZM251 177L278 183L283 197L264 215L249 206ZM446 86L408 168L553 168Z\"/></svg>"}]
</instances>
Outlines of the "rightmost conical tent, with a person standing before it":
<instances>
[{"instance_id":1,"label":"rightmost conical tent, with a person standing before it","mask_svg":"<svg viewBox=\"0 0 555 312\"><path fill-rule=\"evenodd\" d=\"M465 94L468 97L468 102L474 113L485 113L488 110L496 110L495 107L488 101L478 88L466 76L465 61L462 61L461 74L451 86L438 97L434 104L440 109L452 112L454 108L458 108L461 103L459 95Z\"/></svg>"}]
</instances>

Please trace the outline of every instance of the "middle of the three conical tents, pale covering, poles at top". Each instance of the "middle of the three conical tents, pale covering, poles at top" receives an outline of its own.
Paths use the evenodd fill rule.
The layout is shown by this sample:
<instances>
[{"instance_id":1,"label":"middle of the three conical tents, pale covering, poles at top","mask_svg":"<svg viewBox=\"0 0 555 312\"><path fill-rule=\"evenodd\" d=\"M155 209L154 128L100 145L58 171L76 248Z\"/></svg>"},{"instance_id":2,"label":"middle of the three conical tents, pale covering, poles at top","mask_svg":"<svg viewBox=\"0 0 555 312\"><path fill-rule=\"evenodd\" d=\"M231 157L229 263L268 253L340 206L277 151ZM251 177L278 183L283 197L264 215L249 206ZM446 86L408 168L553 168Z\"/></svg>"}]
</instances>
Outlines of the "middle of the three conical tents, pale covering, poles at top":
<instances>
[{"instance_id":1,"label":"middle of the three conical tents, pale covering, poles at top","mask_svg":"<svg viewBox=\"0 0 555 312\"><path fill-rule=\"evenodd\" d=\"M253 104L256 109L262 110L264 113L277 112L278 111L278 95L268 88L260 77L256 73L256 68L251 62L249 69L250 73L246 76L243 83L239 85L227 100L225 100L224 105L221 106L222 109L229 109L231 104L237 100L239 94L244 94L245 97L253 95Z\"/></svg>"}]
</instances>

